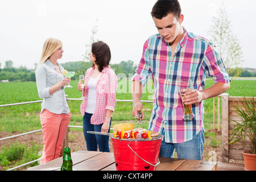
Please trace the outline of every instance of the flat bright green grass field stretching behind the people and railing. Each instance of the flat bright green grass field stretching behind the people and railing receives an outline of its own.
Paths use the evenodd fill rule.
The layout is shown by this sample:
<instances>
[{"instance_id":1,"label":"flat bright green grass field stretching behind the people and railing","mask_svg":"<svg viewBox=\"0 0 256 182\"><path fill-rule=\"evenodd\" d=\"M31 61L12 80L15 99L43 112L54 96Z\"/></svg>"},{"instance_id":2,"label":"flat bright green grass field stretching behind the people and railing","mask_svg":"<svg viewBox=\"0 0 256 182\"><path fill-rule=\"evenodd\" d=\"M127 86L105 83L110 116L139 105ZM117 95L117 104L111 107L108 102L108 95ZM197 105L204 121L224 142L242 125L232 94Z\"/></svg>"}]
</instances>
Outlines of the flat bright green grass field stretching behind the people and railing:
<instances>
[{"instance_id":1,"label":"flat bright green grass field stretching behind the people and railing","mask_svg":"<svg viewBox=\"0 0 256 182\"><path fill-rule=\"evenodd\" d=\"M205 88L212 86L213 81L207 80ZM81 94L76 89L77 81L72 81L73 88L66 88L65 93L68 98L80 98ZM0 105L13 104L18 102L38 101L35 82L7 82L0 83ZM255 96L256 78L254 80L235 80L230 84L228 92L230 96ZM120 79L116 94L117 100L131 100L130 81ZM152 100L152 82L148 81L144 88L142 100ZM81 101L69 100L72 118L71 125L81 126L82 116L80 113ZM152 109L152 103L143 104L146 121L149 121ZM217 101L216 101L217 108ZM38 114L40 113L41 103L27 104L19 106L0 107L0 131L30 131L40 129ZM113 113L113 124L122 121L136 120L131 115L133 109L132 102L117 102L115 112ZM216 109L217 110L217 109ZM205 100L204 123L213 121L213 98ZM217 117L217 113L216 113ZM217 118L216 118L217 121Z\"/></svg>"}]
</instances>

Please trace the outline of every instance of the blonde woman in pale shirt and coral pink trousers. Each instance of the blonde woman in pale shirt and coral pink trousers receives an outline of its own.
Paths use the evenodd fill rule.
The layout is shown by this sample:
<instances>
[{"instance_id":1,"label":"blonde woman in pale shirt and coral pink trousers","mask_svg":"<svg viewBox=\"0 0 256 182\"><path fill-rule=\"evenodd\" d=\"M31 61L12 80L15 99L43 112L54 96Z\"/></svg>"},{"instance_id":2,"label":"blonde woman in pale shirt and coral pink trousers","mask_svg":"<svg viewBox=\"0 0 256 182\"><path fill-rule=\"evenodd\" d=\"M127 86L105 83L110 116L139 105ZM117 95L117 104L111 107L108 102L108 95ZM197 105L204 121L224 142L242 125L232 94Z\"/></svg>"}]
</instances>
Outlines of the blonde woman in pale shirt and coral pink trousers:
<instances>
[{"instance_id":1,"label":"blonde woman in pale shirt and coral pink trousers","mask_svg":"<svg viewBox=\"0 0 256 182\"><path fill-rule=\"evenodd\" d=\"M62 74L64 68L57 62L63 52L60 40L47 39L41 61L35 70L38 95L43 99L40 113L43 135L41 164L59 158L71 117L64 92L71 78Z\"/></svg>"}]
</instances>

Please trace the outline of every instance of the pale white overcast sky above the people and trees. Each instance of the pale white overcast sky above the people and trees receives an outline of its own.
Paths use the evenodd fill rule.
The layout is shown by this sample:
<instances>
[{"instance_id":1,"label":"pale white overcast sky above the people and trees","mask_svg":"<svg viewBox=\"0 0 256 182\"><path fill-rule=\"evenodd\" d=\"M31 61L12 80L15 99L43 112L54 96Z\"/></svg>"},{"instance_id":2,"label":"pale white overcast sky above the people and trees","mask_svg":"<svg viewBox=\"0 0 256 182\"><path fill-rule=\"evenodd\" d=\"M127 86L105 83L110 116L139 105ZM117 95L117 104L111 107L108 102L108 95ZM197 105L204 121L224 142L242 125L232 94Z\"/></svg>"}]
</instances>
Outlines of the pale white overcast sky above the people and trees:
<instances>
[{"instance_id":1,"label":"pale white overcast sky above the people and trees","mask_svg":"<svg viewBox=\"0 0 256 182\"><path fill-rule=\"evenodd\" d=\"M132 60L138 64L145 40L157 30L150 12L156 0L0 0L0 63L12 60L34 68L47 38L63 42L59 63L81 61L92 28L96 39L109 44L110 63ZM256 68L255 0L223 0L232 21L232 30L242 43L243 67ZM212 15L222 0L180 0L183 26L196 35L209 38Z\"/></svg>"}]
</instances>

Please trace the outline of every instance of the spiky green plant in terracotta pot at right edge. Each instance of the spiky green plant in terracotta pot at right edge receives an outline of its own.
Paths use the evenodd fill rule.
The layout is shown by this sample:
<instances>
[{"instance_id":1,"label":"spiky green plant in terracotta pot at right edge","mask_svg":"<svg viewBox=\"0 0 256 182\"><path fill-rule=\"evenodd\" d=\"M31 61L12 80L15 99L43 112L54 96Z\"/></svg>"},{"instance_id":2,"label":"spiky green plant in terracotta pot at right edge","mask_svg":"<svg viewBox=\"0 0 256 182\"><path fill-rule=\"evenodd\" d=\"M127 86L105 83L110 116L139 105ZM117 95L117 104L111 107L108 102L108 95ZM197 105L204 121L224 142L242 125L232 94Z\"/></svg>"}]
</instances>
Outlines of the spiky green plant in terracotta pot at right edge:
<instances>
[{"instance_id":1,"label":"spiky green plant in terracotta pot at right edge","mask_svg":"<svg viewBox=\"0 0 256 182\"><path fill-rule=\"evenodd\" d=\"M243 97L243 104L238 102L234 105L235 112L240 116L242 122L234 121L234 129L232 129L232 137L230 137L229 144L243 140L246 144L245 138L250 140L250 151L243 151L243 160L245 162L245 170L256 171L256 112L255 112L254 97ZM250 164L251 162L251 164Z\"/></svg>"}]
</instances>

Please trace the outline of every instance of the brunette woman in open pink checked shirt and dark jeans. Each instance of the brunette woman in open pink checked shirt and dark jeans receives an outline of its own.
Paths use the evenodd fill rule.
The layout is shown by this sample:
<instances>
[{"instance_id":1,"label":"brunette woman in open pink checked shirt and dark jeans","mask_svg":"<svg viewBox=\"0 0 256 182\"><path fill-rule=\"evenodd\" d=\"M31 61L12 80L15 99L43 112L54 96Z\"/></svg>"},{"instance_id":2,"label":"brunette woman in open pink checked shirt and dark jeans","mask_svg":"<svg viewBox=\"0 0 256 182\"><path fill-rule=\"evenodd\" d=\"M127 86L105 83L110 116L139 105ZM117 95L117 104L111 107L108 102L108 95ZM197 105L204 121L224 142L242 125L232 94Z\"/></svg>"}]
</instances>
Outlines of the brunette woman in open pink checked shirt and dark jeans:
<instances>
[{"instance_id":1,"label":"brunette woman in open pink checked shirt and dark jeans","mask_svg":"<svg viewBox=\"0 0 256 182\"><path fill-rule=\"evenodd\" d=\"M84 137L89 151L109 152L109 136L89 134L87 131L109 133L115 109L117 76L110 68L111 53L104 42L92 44L89 60L92 67L85 73L84 101L80 106L83 117ZM77 89L82 91L81 83Z\"/></svg>"}]
</instances>

